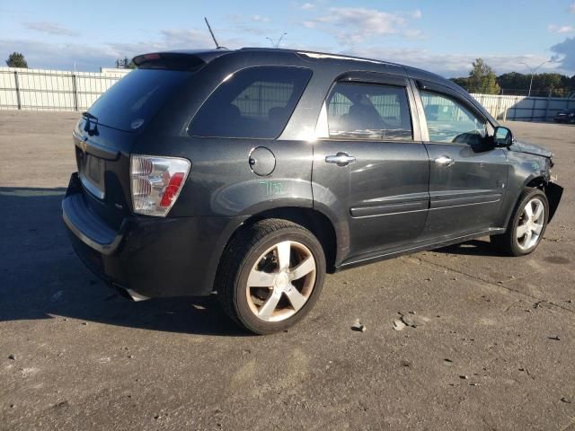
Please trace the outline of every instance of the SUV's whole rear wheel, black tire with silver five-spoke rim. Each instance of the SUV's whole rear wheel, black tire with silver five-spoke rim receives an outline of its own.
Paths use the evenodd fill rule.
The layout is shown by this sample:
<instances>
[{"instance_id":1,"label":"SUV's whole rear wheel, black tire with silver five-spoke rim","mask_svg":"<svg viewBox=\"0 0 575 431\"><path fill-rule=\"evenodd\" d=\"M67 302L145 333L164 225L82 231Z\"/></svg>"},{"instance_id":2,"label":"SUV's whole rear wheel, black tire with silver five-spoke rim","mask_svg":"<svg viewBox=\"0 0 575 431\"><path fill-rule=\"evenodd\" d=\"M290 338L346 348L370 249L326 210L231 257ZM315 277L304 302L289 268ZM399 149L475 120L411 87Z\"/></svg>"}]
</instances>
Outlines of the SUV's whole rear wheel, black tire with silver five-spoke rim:
<instances>
[{"instance_id":1,"label":"SUV's whole rear wheel, black tire with silver five-spoke rim","mask_svg":"<svg viewBox=\"0 0 575 431\"><path fill-rule=\"evenodd\" d=\"M233 321L256 334L270 334L294 325L312 309L324 277L325 256L314 234L299 224L268 219L234 236L215 286Z\"/></svg>"}]
</instances>

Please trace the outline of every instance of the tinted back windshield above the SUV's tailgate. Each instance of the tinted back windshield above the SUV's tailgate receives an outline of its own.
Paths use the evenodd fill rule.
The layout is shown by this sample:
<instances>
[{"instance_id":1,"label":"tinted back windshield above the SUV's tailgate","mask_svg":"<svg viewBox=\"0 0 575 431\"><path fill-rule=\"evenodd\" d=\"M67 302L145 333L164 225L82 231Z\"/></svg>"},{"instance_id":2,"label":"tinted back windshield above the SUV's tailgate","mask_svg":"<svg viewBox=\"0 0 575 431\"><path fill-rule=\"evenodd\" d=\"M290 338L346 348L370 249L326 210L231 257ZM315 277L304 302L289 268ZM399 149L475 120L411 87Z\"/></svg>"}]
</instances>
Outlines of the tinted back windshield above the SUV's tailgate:
<instances>
[{"instance_id":1,"label":"tinted back windshield above the SUV's tailgate","mask_svg":"<svg viewBox=\"0 0 575 431\"><path fill-rule=\"evenodd\" d=\"M120 130L141 128L192 72L136 69L113 84L89 112L98 123Z\"/></svg>"}]
</instances>

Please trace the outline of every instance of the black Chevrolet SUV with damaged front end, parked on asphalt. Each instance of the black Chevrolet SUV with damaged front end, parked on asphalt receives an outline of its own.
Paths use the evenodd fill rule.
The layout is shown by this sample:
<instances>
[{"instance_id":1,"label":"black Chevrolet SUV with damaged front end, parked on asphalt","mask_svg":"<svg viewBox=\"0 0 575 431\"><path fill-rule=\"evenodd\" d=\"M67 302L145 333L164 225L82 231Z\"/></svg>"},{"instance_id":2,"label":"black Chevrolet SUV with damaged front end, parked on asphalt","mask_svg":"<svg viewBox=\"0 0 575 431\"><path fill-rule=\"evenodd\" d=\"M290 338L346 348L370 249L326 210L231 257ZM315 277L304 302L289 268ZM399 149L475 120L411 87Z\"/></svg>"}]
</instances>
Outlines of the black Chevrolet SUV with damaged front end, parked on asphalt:
<instances>
[{"instance_id":1,"label":"black Chevrolet SUV with damaged front end, parked on asphalt","mask_svg":"<svg viewBox=\"0 0 575 431\"><path fill-rule=\"evenodd\" d=\"M256 333L314 305L326 271L491 236L535 250L553 154L419 69L284 49L135 57L74 131L76 253L142 300L210 295Z\"/></svg>"}]
</instances>

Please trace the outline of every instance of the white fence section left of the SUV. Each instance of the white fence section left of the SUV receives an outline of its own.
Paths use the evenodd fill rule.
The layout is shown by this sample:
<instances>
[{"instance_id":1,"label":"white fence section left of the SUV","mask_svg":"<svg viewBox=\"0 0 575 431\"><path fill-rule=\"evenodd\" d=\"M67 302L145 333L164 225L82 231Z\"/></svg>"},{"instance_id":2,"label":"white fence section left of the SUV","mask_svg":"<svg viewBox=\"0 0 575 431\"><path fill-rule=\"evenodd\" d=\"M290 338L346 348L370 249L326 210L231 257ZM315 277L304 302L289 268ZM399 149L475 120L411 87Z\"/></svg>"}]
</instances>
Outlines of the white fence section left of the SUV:
<instances>
[{"instance_id":1,"label":"white fence section left of the SUV","mask_svg":"<svg viewBox=\"0 0 575 431\"><path fill-rule=\"evenodd\" d=\"M102 92L128 72L0 67L0 110L87 110Z\"/></svg>"}]
</instances>

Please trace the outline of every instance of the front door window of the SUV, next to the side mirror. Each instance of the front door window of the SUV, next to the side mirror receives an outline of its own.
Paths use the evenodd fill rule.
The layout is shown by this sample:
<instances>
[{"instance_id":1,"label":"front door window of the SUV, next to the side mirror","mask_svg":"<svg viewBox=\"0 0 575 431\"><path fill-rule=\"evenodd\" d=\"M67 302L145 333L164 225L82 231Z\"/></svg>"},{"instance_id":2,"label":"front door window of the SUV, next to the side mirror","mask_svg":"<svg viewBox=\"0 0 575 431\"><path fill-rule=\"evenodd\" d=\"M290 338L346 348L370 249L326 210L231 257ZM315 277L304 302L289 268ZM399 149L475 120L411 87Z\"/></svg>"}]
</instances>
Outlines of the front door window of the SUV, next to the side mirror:
<instances>
[{"instance_id":1,"label":"front door window of the SUV, next to the side mirror","mask_svg":"<svg viewBox=\"0 0 575 431\"><path fill-rule=\"evenodd\" d=\"M420 91L430 142L479 144L486 134L485 120L438 92Z\"/></svg>"}]
</instances>

